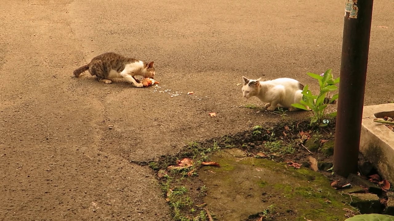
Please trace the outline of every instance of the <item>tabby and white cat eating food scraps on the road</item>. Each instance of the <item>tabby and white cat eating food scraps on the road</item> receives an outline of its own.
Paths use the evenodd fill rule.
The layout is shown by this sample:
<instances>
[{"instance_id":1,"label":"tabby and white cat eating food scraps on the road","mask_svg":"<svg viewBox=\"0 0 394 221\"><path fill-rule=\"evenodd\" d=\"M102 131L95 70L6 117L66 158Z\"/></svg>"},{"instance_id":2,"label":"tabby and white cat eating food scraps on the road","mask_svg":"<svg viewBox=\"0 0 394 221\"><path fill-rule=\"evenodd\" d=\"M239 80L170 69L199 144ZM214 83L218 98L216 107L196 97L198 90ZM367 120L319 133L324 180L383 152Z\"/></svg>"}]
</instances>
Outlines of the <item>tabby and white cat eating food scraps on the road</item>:
<instances>
[{"instance_id":1,"label":"tabby and white cat eating food scraps on the road","mask_svg":"<svg viewBox=\"0 0 394 221\"><path fill-rule=\"evenodd\" d=\"M86 70L89 70L89 73L96 76L97 80L102 83L112 83L110 78L125 78L134 87L143 87L143 84L134 76L140 75L153 79L155 74L153 61L145 63L113 52L94 57L89 64L74 70L74 76L79 77Z\"/></svg>"}]
</instances>

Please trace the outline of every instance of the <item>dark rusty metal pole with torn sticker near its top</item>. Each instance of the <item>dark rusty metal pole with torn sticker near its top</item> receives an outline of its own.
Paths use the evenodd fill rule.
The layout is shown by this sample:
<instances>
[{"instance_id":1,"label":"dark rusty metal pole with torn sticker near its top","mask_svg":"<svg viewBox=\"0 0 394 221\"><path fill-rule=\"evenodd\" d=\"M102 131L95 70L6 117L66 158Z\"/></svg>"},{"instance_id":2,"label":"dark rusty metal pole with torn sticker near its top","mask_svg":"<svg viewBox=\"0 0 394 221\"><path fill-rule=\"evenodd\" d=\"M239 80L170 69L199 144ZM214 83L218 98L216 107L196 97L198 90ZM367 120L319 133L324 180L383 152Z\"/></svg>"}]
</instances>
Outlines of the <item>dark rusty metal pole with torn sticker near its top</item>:
<instances>
[{"instance_id":1,"label":"dark rusty metal pole with torn sticker near its top","mask_svg":"<svg viewBox=\"0 0 394 221\"><path fill-rule=\"evenodd\" d=\"M334 171L357 173L373 0L345 0Z\"/></svg>"}]
</instances>

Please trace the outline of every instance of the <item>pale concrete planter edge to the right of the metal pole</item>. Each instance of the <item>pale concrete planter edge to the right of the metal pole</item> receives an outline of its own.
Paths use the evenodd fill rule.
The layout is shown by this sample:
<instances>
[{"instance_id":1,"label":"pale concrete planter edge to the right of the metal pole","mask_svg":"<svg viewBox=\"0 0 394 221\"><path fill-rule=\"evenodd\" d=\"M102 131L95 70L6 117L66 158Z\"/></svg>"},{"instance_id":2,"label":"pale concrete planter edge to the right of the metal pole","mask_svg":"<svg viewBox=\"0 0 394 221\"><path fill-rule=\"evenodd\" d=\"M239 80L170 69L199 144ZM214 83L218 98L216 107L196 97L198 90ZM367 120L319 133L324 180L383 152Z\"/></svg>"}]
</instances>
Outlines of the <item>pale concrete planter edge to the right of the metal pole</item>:
<instances>
[{"instance_id":1,"label":"pale concrete planter edge to the right of the metal pole","mask_svg":"<svg viewBox=\"0 0 394 221\"><path fill-rule=\"evenodd\" d=\"M394 103L365 106L362 113L360 151L379 173L394 181L394 133L374 118L394 117Z\"/></svg>"}]
</instances>

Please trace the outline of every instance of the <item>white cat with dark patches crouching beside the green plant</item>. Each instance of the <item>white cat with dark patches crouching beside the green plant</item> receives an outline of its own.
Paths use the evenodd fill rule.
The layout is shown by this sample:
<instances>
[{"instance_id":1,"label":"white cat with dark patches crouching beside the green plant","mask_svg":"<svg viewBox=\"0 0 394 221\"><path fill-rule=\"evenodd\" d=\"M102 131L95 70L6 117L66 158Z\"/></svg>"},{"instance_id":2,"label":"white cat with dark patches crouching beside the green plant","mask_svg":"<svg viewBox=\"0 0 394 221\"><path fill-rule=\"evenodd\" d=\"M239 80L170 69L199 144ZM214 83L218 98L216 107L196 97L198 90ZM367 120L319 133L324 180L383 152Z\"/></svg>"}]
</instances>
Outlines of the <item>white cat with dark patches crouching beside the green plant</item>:
<instances>
[{"instance_id":1,"label":"white cat with dark patches crouching beside the green plant","mask_svg":"<svg viewBox=\"0 0 394 221\"><path fill-rule=\"evenodd\" d=\"M289 111L300 110L293 107L293 103L299 103L302 99L302 90L304 85L299 81L291 78L277 78L270 81L260 81L243 78L242 92L247 99L255 96L262 102L267 102L268 110L275 110L279 107L287 108ZM306 107L309 109L309 107Z\"/></svg>"}]
</instances>

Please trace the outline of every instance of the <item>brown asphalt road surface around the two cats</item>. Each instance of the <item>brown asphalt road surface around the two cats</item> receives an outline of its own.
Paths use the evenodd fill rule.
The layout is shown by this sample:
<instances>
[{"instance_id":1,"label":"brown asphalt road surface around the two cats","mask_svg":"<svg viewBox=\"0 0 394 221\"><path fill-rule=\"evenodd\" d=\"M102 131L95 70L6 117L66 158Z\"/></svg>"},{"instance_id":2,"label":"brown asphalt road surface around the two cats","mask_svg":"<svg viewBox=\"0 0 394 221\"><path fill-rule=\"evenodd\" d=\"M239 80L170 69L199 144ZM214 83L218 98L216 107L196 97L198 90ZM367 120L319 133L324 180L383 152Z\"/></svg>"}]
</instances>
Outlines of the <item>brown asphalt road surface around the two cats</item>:
<instances>
[{"instance_id":1,"label":"brown asphalt road surface around the two cats","mask_svg":"<svg viewBox=\"0 0 394 221\"><path fill-rule=\"evenodd\" d=\"M260 104L243 99L242 75L293 77L315 91L306 72L333 68L339 76L342 1L0 0L0 6L0 220L170 220L154 174L130 160L278 120L239 107ZM393 101L391 9L389 0L375 2L366 105ZM182 95L72 77L108 51L154 60L160 90Z\"/></svg>"}]
</instances>

